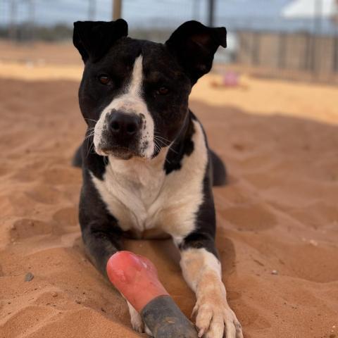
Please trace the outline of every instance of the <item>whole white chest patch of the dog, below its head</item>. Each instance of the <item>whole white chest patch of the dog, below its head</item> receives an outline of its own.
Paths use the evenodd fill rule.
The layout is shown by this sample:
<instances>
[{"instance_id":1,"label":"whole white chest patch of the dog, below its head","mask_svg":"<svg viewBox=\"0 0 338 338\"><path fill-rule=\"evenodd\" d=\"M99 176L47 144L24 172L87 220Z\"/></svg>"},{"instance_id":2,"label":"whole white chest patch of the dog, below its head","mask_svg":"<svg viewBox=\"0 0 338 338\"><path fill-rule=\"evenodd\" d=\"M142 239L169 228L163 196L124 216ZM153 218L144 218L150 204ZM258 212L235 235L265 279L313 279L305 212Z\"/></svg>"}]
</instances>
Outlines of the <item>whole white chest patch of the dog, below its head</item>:
<instances>
[{"instance_id":1,"label":"whole white chest patch of the dog, below its head","mask_svg":"<svg viewBox=\"0 0 338 338\"><path fill-rule=\"evenodd\" d=\"M165 175L168 149L151 161L109 158L104 180L92 180L108 211L122 230L144 232L154 227L184 237L194 228L196 211L203 201L203 179L208 155L204 135L195 123L195 149L182 159L182 168Z\"/></svg>"}]
</instances>

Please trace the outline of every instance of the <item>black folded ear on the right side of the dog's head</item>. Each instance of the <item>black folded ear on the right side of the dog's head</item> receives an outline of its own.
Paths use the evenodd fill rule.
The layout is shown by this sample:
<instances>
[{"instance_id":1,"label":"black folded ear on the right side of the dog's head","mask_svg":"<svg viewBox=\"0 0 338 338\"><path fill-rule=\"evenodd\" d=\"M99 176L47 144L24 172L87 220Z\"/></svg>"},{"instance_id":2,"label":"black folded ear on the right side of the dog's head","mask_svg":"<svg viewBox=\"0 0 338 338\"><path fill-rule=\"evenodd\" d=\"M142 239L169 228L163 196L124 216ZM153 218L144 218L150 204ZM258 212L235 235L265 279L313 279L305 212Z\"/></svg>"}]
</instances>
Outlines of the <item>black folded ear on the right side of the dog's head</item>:
<instances>
[{"instance_id":1,"label":"black folded ear on the right side of the dog's head","mask_svg":"<svg viewBox=\"0 0 338 338\"><path fill-rule=\"evenodd\" d=\"M199 77L211 70L218 47L227 46L227 30L187 21L173 32L165 45L195 84Z\"/></svg>"}]
</instances>

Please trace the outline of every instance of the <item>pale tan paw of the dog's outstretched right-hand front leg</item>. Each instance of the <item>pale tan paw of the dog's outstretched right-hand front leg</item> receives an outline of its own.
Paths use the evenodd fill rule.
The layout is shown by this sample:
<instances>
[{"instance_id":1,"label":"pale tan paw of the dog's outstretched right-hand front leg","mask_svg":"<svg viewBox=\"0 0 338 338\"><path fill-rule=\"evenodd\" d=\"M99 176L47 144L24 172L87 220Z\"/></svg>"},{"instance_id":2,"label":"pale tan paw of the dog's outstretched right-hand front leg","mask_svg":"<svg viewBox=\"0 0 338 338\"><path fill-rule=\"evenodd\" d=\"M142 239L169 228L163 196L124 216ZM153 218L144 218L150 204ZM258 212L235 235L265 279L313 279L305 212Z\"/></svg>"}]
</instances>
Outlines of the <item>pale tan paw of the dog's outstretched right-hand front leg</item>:
<instances>
[{"instance_id":1,"label":"pale tan paw of the dog's outstretched right-hand front leg","mask_svg":"<svg viewBox=\"0 0 338 338\"><path fill-rule=\"evenodd\" d=\"M226 299L212 298L197 301L193 310L199 337L204 338L243 338L242 325Z\"/></svg>"}]
</instances>

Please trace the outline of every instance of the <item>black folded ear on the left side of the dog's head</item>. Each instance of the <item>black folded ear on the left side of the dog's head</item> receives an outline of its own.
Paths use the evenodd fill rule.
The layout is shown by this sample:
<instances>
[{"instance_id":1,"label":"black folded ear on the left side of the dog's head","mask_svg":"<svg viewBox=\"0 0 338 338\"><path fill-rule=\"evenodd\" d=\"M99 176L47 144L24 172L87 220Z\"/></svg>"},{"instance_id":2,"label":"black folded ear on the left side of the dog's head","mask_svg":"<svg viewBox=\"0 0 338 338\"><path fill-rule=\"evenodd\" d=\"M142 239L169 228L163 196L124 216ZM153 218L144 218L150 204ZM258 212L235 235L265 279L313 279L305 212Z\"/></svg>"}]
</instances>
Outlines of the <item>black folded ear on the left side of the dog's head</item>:
<instances>
[{"instance_id":1,"label":"black folded ear on the left side of the dog's head","mask_svg":"<svg viewBox=\"0 0 338 338\"><path fill-rule=\"evenodd\" d=\"M123 19L110 22L77 21L74 23L73 44L84 63L88 60L96 62L117 39L127 35L128 24Z\"/></svg>"}]
</instances>

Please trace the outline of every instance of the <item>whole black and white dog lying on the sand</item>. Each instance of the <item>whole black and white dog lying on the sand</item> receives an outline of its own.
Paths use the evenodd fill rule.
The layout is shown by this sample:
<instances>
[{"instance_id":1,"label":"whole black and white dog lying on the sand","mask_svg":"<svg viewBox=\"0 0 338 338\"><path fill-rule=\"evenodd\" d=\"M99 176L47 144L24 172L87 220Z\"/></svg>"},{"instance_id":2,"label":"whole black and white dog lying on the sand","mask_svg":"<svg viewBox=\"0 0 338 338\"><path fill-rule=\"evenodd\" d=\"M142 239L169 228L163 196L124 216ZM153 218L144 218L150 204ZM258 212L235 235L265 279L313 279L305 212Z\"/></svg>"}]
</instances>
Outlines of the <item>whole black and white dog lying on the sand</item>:
<instances>
[{"instance_id":1,"label":"whole black and white dog lying on the sand","mask_svg":"<svg viewBox=\"0 0 338 338\"><path fill-rule=\"evenodd\" d=\"M88 125L74 161L82 165L80 225L93 263L106 275L124 234L167 234L196 293L199 337L243 337L215 248L211 186L225 182L225 168L188 108L192 86L226 46L225 28L189 21L158 44L127 37L122 19L77 22L73 42L84 61L79 101Z\"/></svg>"}]
</instances>

